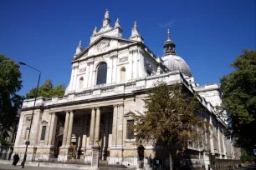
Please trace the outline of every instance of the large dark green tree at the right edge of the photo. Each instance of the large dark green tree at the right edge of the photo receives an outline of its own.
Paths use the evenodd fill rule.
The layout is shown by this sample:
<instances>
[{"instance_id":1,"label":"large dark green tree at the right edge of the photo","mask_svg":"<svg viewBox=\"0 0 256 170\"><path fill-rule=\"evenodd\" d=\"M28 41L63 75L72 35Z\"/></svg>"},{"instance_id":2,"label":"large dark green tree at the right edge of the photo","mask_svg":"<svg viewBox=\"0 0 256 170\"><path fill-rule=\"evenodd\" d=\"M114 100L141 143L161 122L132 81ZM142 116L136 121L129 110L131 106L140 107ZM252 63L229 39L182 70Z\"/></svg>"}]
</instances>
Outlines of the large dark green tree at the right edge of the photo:
<instances>
[{"instance_id":1,"label":"large dark green tree at the right edge of the photo","mask_svg":"<svg viewBox=\"0 0 256 170\"><path fill-rule=\"evenodd\" d=\"M234 71L221 78L223 109L227 110L238 145L250 149L256 146L256 51L243 50L231 64Z\"/></svg>"}]
</instances>

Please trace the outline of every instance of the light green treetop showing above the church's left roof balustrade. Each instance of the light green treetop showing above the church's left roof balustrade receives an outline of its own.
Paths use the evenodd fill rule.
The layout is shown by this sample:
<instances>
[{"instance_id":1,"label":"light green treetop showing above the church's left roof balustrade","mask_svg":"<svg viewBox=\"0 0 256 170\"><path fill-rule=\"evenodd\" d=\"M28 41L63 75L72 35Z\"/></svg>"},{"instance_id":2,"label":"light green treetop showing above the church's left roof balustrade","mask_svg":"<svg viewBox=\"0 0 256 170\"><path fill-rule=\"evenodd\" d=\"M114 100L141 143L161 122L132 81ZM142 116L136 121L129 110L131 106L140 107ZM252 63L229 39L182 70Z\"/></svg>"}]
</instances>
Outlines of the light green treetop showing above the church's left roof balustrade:
<instances>
[{"instance_id":1,"label":"light green treetop showing above the church's left roof balustrade","mask_svg":"<svg viewBox=\"0 0 256 170\"><path fill-rule=\"evenodd\" d=\"M27 93L27 98L33 98L36 92L36 88L33 87L30 92ZM64 84L59 83L54 87L53 82L48 79L44 84L38 87L38 97L54 97L64 96L65 88Z\"/></svg>"}]
</instances>

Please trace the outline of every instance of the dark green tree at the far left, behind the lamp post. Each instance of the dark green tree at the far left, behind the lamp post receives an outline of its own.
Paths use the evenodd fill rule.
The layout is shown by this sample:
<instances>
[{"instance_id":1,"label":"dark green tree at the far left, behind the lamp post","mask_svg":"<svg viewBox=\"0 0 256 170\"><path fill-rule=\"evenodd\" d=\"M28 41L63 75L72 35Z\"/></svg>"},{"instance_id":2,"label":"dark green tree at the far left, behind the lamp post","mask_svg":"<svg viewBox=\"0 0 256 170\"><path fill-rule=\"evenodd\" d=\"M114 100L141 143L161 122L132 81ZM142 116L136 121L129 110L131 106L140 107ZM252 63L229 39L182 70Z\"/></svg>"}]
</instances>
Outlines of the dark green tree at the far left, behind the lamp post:
<instances>
[{"instance_id":1,"label":"dark green tree at the far left, behind the lamp post","mask_svg":"<svg viewBox=\"0 0 256 170\"><path fill-rule=\"evenodd\" d=\"M22 87L19 65L9 57L0 54L0 136L5 138L13 129L18 108L23 98L17 94Z\"/></svg>"}]
</instances>

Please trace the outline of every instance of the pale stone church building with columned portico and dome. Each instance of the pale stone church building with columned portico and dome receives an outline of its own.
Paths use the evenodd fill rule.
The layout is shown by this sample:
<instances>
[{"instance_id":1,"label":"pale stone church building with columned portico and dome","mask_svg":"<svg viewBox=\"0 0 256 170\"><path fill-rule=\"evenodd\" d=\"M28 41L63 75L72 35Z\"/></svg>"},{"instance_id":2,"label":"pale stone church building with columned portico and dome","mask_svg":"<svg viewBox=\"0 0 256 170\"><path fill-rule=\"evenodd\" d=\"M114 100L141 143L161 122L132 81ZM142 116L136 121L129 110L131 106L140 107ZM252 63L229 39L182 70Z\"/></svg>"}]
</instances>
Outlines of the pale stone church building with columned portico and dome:
<instances>
[{"instance_id":1,"label":"pale stone church building with columned portico and dome","mask_svg":"<svg viewBox=\"0 0 256 170\"><path fill-rule=\"evenodd\" d=\"M207 109L203 115L212 124L212 138L208 148L197 143L189 147L194 167L207 167L211 155L233 159L228 122L218 114L222 102L219 85L195 83L187 62L177 56L169 30L161 57L146 46L136 22L131 37L122 37L122 32L118 18L114 27L110 25L106 10L102 27L93 30L88 47L83 48L80 41L76 48L64 96L37 98L29 139L34 98L23 101L13 153L23 159L25 143L29 141L27 161L79 160L90 164L96 154L100 162L137 168L138 150L128 125L134 123L133 114L146 112L146 89L156 81L164 81L168 85L180 83L189 92L197 92L199 102ZM145 166L153 160L161 160L162 167L168 166L165 148L144 147Z\"/></svg>"}]
</instances>

